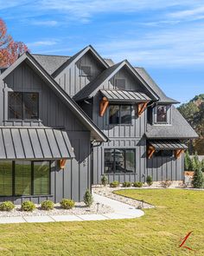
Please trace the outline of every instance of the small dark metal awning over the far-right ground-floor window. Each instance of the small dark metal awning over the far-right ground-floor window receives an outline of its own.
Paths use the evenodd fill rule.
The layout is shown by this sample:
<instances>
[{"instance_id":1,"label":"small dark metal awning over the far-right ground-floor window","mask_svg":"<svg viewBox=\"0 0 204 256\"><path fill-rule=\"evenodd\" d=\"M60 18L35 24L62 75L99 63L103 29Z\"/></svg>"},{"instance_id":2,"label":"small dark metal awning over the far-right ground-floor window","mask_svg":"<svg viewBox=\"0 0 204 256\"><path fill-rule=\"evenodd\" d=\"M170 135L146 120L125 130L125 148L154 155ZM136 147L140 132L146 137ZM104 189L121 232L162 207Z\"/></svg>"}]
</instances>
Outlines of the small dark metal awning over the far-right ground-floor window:
<instances>
[{"instance_id":1,"label":"small dark metal awning over the far-right ground-floor window","mask_svg":"<svg viewBox=\"0 0 204 256\"><path fill-rule=\"evenodd\" d=\"M179 140L148 141L155 149L187 149L188 147Z\"/></svg>"}]
</instances>

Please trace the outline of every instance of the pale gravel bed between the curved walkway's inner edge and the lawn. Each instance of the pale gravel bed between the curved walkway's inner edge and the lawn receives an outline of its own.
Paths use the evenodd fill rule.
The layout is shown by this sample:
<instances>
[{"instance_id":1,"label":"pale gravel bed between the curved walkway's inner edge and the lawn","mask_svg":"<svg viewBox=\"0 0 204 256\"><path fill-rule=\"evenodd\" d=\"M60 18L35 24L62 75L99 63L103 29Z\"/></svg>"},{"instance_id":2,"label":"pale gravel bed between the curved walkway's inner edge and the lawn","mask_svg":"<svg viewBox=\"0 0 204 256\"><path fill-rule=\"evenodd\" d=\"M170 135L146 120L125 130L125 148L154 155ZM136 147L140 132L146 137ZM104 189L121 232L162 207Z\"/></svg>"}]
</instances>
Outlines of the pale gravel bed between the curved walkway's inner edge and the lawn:
<instances>
[{"instance_id":1,"label":"pale gravel bed between the curved walkway's inner edge and the lawn","mask_svg":"<svg viewBox=\"0 0 204 256\"><path fill-rule=\"evenodd\" d=\"M103 195L106 197L109 197L111 199L114 200L118 200L121 201L125 204L131 205L132 207L136 207L136 208L154 208L154 206L146 203L146 202L141 202L140 200L134 200L131 198L127 198L124 197L122 195L118 195L118 194L113 194L113 191L116 190L124 190L124 189L132 189L132 188L136 188L136 187L104 187L104 186L94 186L92 187L92 192L95 194L99 194L99 195ZM143 189L143 188L138 188L138 189Z\"/></svg>"}]
</instances>

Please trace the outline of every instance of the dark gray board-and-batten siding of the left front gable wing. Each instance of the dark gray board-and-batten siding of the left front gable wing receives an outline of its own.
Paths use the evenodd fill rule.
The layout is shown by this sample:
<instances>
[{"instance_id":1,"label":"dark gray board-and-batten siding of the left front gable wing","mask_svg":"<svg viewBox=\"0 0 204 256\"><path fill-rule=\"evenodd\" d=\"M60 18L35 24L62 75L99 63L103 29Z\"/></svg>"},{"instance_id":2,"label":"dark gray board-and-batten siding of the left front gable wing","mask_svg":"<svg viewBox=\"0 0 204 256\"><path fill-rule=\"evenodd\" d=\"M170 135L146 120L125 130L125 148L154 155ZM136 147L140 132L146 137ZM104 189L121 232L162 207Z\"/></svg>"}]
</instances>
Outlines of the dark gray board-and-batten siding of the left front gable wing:
<instances>
[{"instance_id":1,"label":"dark gray board-and-batten siding of the left front gable wing","mask_svg":"<svg viewBox=\"0 0 204 256\"><path fill-rule=\"evenodd\" d=\"M40 121L8 120L10 91L39 92ZM59 202L62 198L83 200L86 188L90 188L90 130L26 62L22 62L4 79L4 82L1 82L0 96L3 99L0 108L1 126L63 128L67 132L75 154L74 159L67 160L65 169L59 167L58 161L52 161L50 195L13 197L10 200L14 200L16 204L29 199L35 202L45 199Z\"/></svg>"}]
</instances>

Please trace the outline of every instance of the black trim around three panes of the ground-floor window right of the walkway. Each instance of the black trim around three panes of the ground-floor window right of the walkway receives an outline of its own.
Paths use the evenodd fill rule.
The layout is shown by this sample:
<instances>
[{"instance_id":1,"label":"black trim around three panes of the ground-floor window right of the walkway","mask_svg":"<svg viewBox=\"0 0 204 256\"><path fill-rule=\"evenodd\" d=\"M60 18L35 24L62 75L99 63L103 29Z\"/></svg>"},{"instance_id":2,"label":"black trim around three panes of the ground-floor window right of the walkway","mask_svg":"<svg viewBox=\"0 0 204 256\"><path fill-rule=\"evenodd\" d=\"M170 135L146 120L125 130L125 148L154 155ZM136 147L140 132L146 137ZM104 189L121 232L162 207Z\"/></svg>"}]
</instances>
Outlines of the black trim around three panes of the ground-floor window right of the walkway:
<instances>
[{"instance_id":1,"label":"black trim around three panes of the ground-floor window right of the walkway","mask_svg":"<svg viewBox=\"0 0 204 256\"><path fill-rule=\"evenodd\" d=\"M115 153L114 153L114 160L113 160L113 172L112 173L105 173L105 150L114 150L114 152L115 152L115 150L124 150L124 169L125 169L125 171L123 173L117 173L116 172ZM134 167L134 172L132 172L132 173L126 172L126 150L133 150L134 155L135 155L135 161L134 161L135 167ZM124 174L136 174L136 171L137 171L136 163L137 163L137 161L136 161L136 148L104 148L104 174L105 175L112 175L112 174L122 174L122 175L124 175Z\"/></svg>"}]
</instances>

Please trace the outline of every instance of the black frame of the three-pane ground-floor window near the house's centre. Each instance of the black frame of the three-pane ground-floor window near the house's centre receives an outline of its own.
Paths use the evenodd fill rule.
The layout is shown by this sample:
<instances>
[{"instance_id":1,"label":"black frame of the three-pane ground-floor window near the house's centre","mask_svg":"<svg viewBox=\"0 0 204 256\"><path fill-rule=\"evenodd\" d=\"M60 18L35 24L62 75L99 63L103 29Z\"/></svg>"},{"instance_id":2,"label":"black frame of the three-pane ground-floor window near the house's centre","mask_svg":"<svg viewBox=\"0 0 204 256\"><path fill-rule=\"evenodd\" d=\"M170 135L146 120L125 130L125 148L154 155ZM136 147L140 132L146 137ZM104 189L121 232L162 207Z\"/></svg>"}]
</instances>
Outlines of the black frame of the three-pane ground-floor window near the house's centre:
<instances>
[{"instance_id":1,"label":"black frame of the three-pane ground-floor window near the house's centre","mask_svg":"<svg viewBox=\"0 0 204 256\"><path fill-rule=\"evenodd\" d=\"M114 161L113 161L113 172L112 173L106 173L105 172L105 150L113 150L114 152ZM115 151L116 150L123 150L124 151L124 172L116 172L116 161L115 161ZM126 171L126 151L132 150L134 152L134 171L133 172L127 172ZM136 148L105 148L104 149L104 174L136 174Z\"/></svg>"}]
</instances>

